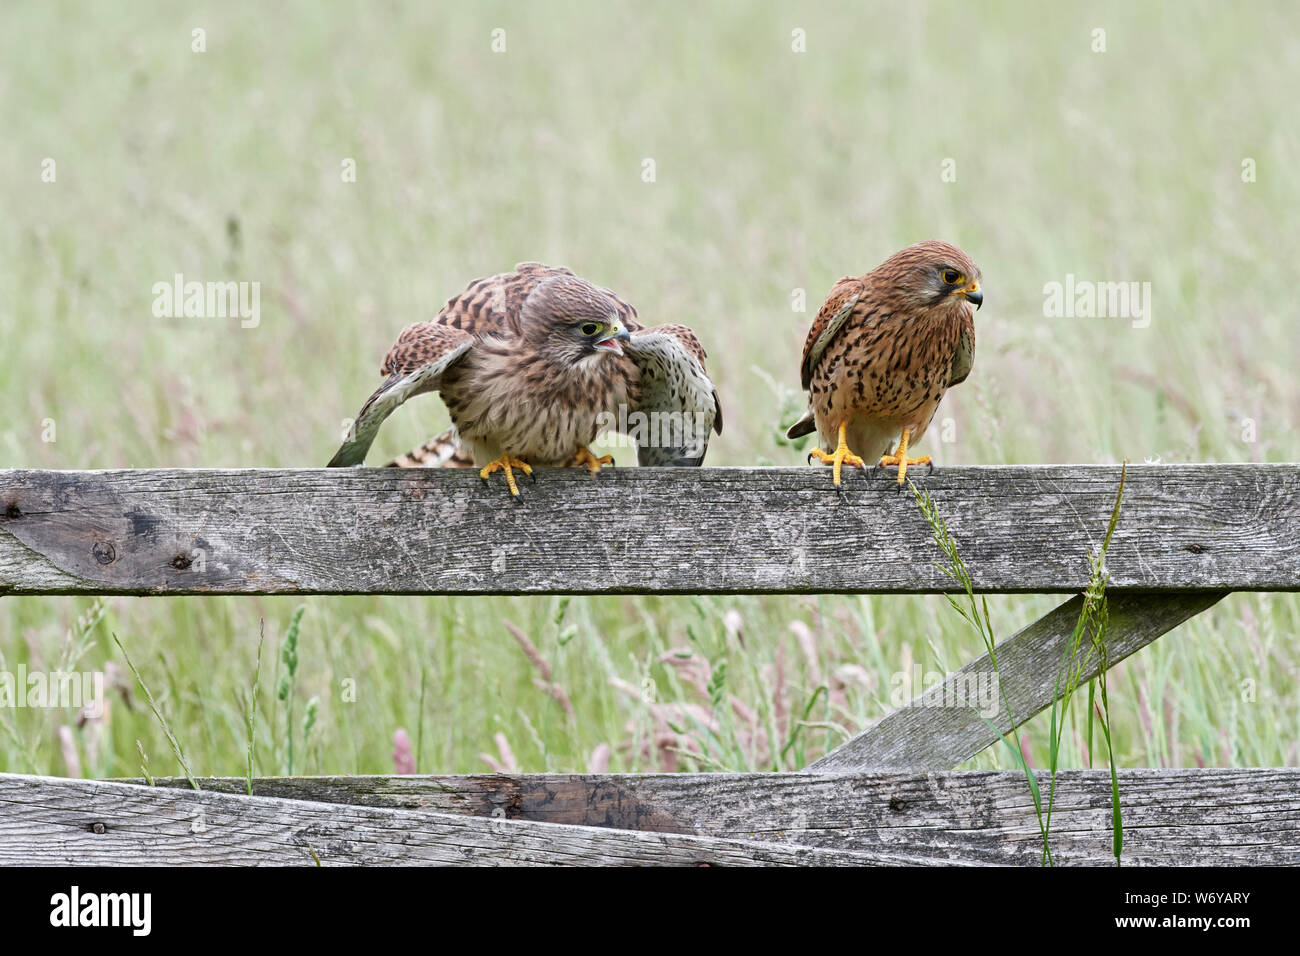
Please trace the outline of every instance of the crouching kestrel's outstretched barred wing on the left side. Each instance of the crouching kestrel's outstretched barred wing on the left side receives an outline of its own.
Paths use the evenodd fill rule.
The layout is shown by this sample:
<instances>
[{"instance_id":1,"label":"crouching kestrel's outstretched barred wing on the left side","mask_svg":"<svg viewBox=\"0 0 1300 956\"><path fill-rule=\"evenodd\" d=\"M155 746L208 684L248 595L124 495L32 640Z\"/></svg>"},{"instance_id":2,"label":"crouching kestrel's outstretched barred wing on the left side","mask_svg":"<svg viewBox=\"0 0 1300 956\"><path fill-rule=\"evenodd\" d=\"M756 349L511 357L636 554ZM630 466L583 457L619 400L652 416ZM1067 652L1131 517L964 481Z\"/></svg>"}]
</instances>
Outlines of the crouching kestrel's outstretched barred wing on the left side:
<instances>
[{"instance_id":1,"label":"crouching kestrel's outstretched barred wing on the left side","mask_svg":"<svg viewBox=\"0 0 1300 956\"><path fill-rule=\"evenodd\" d=\"M387 378L361 406L347 440L326 467L361 464L384 419L408 398L442 388L443 372L473 343L474 336L450 325L416 323L406 326L384 359L382 371Z\"/></svg>"}]
</instances>

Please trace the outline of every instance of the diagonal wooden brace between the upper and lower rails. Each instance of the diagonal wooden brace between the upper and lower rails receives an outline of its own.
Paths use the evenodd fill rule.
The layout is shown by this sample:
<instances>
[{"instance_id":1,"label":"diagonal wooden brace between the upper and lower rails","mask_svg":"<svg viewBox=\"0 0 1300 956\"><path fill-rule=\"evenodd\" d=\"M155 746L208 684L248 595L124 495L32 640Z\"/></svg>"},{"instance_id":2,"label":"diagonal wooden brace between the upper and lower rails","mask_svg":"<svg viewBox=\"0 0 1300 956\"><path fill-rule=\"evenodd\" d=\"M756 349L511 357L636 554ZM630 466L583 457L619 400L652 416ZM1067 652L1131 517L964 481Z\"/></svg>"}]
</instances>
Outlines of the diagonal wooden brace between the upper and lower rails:
<instances>
[{"instance_id":1,"label":"diagonal wooden brace between the upper and lower rails","mask_svg":"<svg viewBox=\"0 0 1300 956\"><path fill-rule=\"evenodd\" d=\"M1222 597L1222 592L1109 594L1108 659L1112 666L1118 663ZM998 734L1011 730L1008 705L1020 724L1057 698L1058 687L1065 685L1058 674L1082 607L1083 597L1072 597L998 644L996 674L989 656L982 656L831 750L809 770L950 770L970 760L996 744ZM1086 654L1086 648L1079 658L1080 663L1084 661L1080 683L1101 670L1100 657ZM1074 706L1087 706L1086 693L1075 697ZM997 734L989 723L997 727Z\"/></svg>"}]
</instances>

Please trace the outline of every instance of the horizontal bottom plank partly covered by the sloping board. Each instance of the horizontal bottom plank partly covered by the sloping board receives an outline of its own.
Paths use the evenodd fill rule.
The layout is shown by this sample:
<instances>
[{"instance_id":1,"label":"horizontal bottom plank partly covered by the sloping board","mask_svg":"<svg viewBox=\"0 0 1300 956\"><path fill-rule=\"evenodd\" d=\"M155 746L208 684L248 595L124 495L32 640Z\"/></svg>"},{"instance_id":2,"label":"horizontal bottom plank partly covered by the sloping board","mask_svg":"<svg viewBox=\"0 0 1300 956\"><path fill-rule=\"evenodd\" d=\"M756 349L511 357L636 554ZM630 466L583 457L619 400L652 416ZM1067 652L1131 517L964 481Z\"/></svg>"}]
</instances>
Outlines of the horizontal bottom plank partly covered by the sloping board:
<instances>
[{"instance_id":1,"label":"horizontal bottom plank partly covered by the sloping board","mask_svg":"<svg viewBox=\"0 0 1300 956\"><path fill-rule=\"evenodd\" d=\"M1043 793L1048 775L1037 774ZM183 779L161 786L187 786ZM203 779L243 792L244 780ZM1023 774L485 774L265 778L256 793L538 823L788 843L910 862L1037 865ZM1121 770L1124 865L1300 864L1300 769ZM1057 777L1052 851L1113 865L1110 775Z\"/></svg>"}]
</instances>

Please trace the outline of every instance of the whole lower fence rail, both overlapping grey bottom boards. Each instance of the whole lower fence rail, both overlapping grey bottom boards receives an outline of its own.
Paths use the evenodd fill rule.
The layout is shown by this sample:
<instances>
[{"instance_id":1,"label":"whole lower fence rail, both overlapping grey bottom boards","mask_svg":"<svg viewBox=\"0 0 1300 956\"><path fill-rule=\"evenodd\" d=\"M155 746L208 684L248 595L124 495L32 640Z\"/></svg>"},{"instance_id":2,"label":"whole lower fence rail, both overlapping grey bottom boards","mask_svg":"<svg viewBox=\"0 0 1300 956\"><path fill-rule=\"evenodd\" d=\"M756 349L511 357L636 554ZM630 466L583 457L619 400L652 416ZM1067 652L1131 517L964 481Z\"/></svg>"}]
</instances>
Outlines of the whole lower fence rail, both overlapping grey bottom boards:
<instances>
[{"instance_id":1,"label":"whole lower fence rail, both overlapping grey bottom boards","mask_svg":"<svg viewBox=\"0 0 1300 956\"><path fill-rule=\"evenodd\" d=\"M1046 801L1050 778L1037 775ZM101 782L0 774L0 865L1039 865L1018 771ZM1300 865L1300 769L1121 770L1123 856ZM1057 775L1058 865L1115 864L1110 775Z\"/></svg>"}]
</instances>

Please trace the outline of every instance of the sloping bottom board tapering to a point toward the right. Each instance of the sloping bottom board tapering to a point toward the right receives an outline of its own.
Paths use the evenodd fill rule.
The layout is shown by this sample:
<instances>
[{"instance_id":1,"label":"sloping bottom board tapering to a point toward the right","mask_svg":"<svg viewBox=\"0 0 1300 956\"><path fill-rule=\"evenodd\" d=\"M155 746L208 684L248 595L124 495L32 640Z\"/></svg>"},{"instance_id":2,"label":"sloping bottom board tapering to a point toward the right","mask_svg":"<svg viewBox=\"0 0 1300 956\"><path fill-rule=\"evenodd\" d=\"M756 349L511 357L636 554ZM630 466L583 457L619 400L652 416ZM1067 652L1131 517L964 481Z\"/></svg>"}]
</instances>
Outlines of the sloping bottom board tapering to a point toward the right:
<instances>
[{"instance_id":1,"label":"sloping bottom board tapering to a point toward the right","mask_svg":"<svg viewBox=\"0 0 1300 956\"><path fill-rule=\"evenodd\" d=\"M0 866L852 866L783 843L0 774Z\"/></svg>"}]
</instances>

